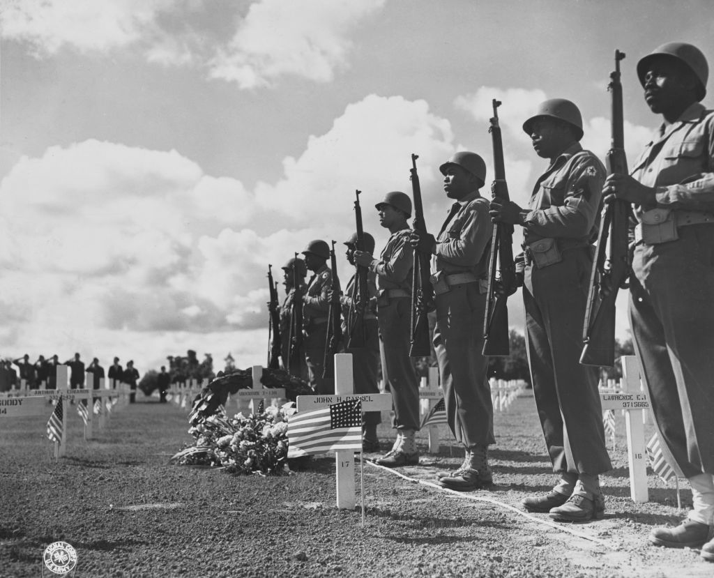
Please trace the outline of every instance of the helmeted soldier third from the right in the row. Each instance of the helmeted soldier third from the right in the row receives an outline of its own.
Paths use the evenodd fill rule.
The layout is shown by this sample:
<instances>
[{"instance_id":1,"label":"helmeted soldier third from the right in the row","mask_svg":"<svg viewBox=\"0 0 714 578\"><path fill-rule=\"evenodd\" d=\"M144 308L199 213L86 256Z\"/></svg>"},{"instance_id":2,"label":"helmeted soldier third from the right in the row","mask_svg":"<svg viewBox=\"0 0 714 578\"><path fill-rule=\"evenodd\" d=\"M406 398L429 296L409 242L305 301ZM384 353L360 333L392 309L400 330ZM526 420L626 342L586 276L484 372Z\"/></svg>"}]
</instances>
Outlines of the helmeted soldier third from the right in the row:
<instances>
[{"instance_id":1,"label":"helmeted soldier third from the right in the row","mask_svg":"<svg viewBox=\"0 0 714 578\"><path fill-rule=\"evenodd\" d=\"M446 196L456 202L436 238L415 230L411 245L434 255L433 343L448 424L466 452L458 470L437 476L443 487L468 491L493 483L487 450L496 442L486 379L488 362L481 354L491 220L488 201L478 190L486 182L486 163L476 153L464 151L453 155L439 170Z\"/></svg>"}]
</instances>

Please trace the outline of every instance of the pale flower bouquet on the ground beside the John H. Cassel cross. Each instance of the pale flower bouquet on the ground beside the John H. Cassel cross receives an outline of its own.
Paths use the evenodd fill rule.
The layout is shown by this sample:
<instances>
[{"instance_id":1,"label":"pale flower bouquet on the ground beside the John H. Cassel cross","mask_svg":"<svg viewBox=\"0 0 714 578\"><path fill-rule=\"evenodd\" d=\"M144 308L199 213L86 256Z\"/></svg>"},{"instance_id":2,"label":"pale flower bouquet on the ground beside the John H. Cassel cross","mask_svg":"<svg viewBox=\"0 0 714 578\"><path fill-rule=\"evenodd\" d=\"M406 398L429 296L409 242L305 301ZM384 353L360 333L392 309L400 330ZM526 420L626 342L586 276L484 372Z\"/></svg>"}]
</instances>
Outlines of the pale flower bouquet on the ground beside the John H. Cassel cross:
<instances>
[{"instance_id":1,"label":"pale flower bouquet on the ground beside the John H. Cassel cross","mask_svg":"<svg viewBox=\"0 0 714 578\"><path fill-rule=\"evenodd\" d=\"M287 417L294 412L293 402L282 407L269 406L265 410L259 407L255 413L247 416L238 413L232 418L219 409L191 425L188 433L196 439L196 444L178 452L171 462L223 467L226 472L235 474L266 475L289 471L286 467Z\"/></svg>"}]
</instances>

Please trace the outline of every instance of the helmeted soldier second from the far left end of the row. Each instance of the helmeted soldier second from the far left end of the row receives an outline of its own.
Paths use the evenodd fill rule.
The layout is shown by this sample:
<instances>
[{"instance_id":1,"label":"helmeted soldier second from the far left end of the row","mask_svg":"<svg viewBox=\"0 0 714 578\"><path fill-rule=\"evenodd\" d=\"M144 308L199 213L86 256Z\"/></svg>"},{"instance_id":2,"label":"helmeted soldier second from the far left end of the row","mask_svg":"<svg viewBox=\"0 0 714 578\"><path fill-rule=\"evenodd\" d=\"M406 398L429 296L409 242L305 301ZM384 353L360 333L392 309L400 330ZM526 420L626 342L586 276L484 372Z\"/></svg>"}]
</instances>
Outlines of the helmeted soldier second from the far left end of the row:
<instances>
[{"instance_id":1,"label":"helmeted soldier second from the far left end of the row","mask_svg":"<svg viewBox=\"0 0 714 578\"><path fill-rule=\"evenodd\" d=\"M334 377L323 377L325 348L330 310L329 293L332 271L327 266L330 248L323 240L313 240L303 250L305 264L313 272L303 295L303 327L305 328L305 360L310 385L316 393L335 392Z\"/></svg>"}]
</instances>

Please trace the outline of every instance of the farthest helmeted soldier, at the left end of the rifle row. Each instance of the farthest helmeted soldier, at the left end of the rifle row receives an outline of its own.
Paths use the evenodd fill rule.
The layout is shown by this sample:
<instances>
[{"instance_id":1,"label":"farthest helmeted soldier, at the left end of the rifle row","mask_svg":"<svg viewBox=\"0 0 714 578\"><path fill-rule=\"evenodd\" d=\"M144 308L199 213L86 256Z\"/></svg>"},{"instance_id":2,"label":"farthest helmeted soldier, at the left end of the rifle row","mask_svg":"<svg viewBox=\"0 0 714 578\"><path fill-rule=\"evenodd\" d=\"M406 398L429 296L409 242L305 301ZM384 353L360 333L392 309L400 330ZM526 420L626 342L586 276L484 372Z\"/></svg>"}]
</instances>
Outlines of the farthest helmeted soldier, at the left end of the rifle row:
<instances>
[{"instance_id":1,"label":"farthest helmeted soldier, at the left end of the rifle row","mask_svg":"<svg viewBox=\"0 0 714 578\"><path fill-rule=\"evenodd\" d=\"M285 300L280 308L280 338L283 362L285 362L286 370L291 375L307 381L308 367L305 363L305 353L302 348L303 327L302 323L299 326L296 324L296 313L298 311L295 308L299 308L299 313L302 313L301 295L305 292L305 276L308 274L308 269L305 266L305 261L293 257L283 265L283 271L285 272L283 286L286 293ZM296 303L298 298L299 301ZM298 317L301 318L301 315L298 315Z\"/></svg>"}]
</instances>

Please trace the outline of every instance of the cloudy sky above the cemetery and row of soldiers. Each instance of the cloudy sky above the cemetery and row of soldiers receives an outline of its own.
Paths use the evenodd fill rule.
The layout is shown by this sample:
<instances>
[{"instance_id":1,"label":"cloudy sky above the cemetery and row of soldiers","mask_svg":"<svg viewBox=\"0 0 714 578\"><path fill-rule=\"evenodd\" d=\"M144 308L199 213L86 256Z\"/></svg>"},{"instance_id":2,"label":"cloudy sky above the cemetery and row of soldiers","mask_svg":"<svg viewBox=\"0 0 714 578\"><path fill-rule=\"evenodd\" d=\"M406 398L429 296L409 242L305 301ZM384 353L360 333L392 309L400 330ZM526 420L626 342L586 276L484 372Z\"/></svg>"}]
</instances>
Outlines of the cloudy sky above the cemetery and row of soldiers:
<instances>
[{"instance_id":1,"label":"cloudy sky above the cemetery and row of soldiers","mask_svg":"<svg viewBox=\"0 0 714 578\"><path fill-rule=\"evenodd\" d=\"M188 348L263 362L268 263L279 278L309 240L345 240L356 188L380 247L373 205L411 193L417 153L427 226L438 228L441 162L478 151L492 177L499 98L508 185L525 205L547 163L521 123L544 98L570 98L583 145L603 158L615 49L627 54L633 160L658 123L636 61L675 40L713 59L710 10L710 0L0 0L0 355L119 355L141 372ZM342 254L338 269L350 274ZM511 303L522 330L520 293Z\"/></svg>"}]
</instances>

